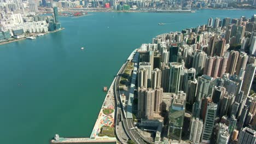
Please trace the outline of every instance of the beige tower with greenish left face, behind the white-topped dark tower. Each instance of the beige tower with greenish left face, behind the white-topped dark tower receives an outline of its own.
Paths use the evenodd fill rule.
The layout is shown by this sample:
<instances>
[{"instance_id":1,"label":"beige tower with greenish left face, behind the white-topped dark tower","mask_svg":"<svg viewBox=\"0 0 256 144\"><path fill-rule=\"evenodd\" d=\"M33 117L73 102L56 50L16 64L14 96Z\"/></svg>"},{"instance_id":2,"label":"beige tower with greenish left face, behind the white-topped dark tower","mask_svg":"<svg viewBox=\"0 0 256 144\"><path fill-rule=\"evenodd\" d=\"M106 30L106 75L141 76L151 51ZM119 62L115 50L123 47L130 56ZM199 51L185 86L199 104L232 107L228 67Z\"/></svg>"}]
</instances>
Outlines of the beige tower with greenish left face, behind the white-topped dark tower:
<instances>
[{"instance_id":1,"label":"beige tower with greenish left face, behind the white-topped dark tower","mask_svg":"<svg viewBox=\"0 0 256 144\"><path fill-rule=\"evenodd\" d=\"M197 50L196 52L194 52L192 67L196 70L196 76L200 76L203 74L203 68L205 67L206 57L206 53L201 50Z\"/></svg>"}]
</instances>

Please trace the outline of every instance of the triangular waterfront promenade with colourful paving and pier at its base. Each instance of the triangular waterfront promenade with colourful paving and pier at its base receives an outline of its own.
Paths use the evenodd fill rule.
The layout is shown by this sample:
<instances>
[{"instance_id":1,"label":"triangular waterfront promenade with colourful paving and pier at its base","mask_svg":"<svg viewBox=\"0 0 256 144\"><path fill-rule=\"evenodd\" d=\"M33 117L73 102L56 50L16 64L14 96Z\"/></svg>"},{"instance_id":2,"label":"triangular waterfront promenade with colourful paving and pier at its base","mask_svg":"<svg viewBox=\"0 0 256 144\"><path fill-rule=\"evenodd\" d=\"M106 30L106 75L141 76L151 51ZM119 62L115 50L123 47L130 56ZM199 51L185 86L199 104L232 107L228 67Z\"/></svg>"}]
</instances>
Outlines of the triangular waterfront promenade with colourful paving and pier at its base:
<instances>
[{"instance_id":1,"label":"triangular waterfront promenade with colourful paving and pier at its base","mask_svg":"<svg viewBox=\"0 0 256 144\"><path fill-rule=\"evenodd\" d=\"M116 78L115 78L116 79ZM106 97L101 106L100 112L96 119L94 128L92 129L90 137L60 137L55 135L50 143L104 143L116 142L114 129L115 129L115 101L113 86L115 79L108 89Z\"/></svg>"}]
</instances>

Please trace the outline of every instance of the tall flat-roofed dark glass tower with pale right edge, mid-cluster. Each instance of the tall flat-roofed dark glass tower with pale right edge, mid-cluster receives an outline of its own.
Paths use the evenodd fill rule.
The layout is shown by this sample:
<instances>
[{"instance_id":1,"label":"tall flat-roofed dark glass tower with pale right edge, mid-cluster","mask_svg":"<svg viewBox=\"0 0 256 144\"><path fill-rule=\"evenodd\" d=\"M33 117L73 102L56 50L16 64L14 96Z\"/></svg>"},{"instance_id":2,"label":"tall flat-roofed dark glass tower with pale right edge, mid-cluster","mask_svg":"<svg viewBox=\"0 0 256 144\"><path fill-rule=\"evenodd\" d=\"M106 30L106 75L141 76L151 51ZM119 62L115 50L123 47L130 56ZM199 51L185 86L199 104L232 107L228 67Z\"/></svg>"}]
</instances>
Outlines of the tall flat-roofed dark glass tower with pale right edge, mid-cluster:
<instances>
[{"instance_id":1,"label":"tall flat-roofed dark glass tower with pale right edge, mid-cluster","mask_svg":"<svg viewBox=\"0 0 256 144\"><path fill-rule=\"evenodd\" d=\"M181 79L182 64L172 62L170 63L170 76L169 76L169 93L177 93L179 91L179 81Z\"/></svg>"}]
</instances>

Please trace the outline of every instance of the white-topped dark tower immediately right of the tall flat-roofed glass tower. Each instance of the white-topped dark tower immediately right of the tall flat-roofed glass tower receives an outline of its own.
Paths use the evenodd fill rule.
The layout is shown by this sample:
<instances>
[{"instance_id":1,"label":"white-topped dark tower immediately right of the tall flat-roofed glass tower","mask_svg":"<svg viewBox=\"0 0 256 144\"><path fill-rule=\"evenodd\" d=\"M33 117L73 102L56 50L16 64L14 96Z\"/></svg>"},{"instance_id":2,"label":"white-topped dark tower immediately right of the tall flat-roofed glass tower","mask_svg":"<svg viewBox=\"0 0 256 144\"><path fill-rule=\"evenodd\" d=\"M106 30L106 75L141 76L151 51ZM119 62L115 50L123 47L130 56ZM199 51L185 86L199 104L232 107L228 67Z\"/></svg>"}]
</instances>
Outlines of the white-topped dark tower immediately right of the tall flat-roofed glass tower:
<instances>
[{"instance_id":1,"label":"white-topped dark tower immediately right of the tall flat-roofed glass tower","mask_svg":"<svg viewBox=\"0 0 256 144\"><path fill-rule=\"evenodd\" d=\"M188 81L195 80L196 70L194 68L190 68L190 69L183 69L183 71L184 71L184 76L183 76L183 81L181 81L181 84L182 84L181 90L186 91Z\"/></svg>"}]
</instances>

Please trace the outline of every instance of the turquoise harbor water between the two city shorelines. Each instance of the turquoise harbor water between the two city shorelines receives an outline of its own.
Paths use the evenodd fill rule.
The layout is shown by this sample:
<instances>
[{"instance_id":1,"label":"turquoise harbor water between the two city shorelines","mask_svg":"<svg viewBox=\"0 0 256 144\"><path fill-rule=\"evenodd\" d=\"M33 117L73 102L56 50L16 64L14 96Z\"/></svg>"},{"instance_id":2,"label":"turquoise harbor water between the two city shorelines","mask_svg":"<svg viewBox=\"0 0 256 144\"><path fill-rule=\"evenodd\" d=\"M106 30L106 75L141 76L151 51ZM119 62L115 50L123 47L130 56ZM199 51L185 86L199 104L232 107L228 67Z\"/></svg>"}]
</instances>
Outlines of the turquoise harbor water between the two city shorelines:
<instances>
[{"instance_id":1,"label":"turquoise harbor water between the two city shorelines","mask_svg":"<svg viewBox=\"0 0 256 144\"><path fill-rule=\"evenodd\" d=\"M102 87L109 87L133 49L158 34L202 25L210 16L255 13L198 10L60 17L63 31L0 45L1 143L44 144L54 134L89 137L106 95Z\"/></svg>"}]
</instances>

